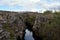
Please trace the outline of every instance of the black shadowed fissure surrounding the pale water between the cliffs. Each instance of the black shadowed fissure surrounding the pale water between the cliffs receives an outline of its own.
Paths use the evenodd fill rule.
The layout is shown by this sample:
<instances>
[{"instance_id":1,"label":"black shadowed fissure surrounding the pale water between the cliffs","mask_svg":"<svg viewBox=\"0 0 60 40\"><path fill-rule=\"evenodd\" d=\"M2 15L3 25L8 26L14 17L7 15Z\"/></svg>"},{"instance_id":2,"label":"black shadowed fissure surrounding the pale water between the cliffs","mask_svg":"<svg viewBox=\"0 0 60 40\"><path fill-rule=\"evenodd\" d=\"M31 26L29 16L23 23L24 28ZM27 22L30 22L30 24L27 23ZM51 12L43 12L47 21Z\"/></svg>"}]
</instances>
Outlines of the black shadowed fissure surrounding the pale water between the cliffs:
<instances>
[{"instance_id":1,"label":"black shadowed fissure surrounding the pale water between the cliffs","mask_svg":"<svg viewBox=\"0 0 60 40\"><path fill-rule=\"evenodd\" d=\"M33 31L33 28L32 28L33 25L31 25L31 23L29 23L28 21L25 21L25 25L26 25L26 29L28 29L30 32L32 32L32 34L33 34L32 37L34 38L34 40L43 40L42 36L38 37L35 35L35 32ZM23 38L22 38L23 40L25 40L26 29L23 31L24 32ZM17 40L21 40L19 36L17 37Z\"/></svg>"}]
</instances>

